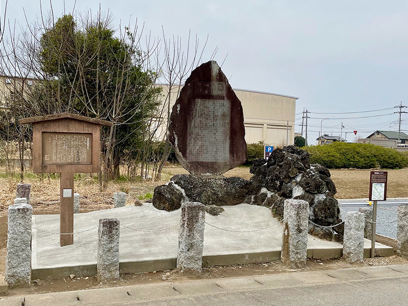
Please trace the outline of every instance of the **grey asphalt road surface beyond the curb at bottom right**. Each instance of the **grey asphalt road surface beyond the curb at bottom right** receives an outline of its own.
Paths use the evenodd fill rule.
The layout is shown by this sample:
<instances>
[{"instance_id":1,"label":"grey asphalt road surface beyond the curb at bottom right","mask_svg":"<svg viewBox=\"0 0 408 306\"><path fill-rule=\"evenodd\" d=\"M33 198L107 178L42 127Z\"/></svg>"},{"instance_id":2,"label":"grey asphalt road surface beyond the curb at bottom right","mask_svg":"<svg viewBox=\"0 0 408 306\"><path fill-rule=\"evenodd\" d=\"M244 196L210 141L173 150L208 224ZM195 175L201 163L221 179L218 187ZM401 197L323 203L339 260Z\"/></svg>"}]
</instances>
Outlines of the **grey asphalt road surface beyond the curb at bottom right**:
<instances>
[{"instance_id":1,"label":"grey asphalt road surface beyond the curb at bottom right","mask_svg":"<svg viewBox=\"0 0 408 306\"><path fill-rule=\"evenodd\" d=\"M129 305L155 306L384 306L406 305L406 278L376 279L364 283L330 284L316 287L282 288L156 300Z\"/></svg>"}]
</instances>

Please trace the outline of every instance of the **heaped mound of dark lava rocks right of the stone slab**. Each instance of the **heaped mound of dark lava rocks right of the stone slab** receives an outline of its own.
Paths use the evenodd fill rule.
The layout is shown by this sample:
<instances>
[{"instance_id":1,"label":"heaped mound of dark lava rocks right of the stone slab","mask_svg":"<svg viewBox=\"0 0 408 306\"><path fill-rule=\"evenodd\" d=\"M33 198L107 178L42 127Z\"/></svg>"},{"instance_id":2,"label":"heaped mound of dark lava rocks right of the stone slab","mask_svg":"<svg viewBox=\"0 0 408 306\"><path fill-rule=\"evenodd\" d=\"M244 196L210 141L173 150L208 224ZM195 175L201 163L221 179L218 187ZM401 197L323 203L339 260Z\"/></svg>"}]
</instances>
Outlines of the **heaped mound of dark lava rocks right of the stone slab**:
<instances>
[{"instance_id":1,"label":"heaped mound of dark lava rocks right of the stone slab","mask_svg":"<svg viewBox=\"0 0 408 306\"><path fill-rule=\"evenodd\" d=\"M273 214L282 218L284 200L301 199L309 202L312 222L331 226L341 221L330 172L319 164L311 164L308 152L294 146L275 149L268 161L254 160L250 172L252 190L259 191L248 196L247 203L271 207ZM309 232L321 238L341 240L343 227L324 228L311 223Z\"/></svg>"}]
</instances>

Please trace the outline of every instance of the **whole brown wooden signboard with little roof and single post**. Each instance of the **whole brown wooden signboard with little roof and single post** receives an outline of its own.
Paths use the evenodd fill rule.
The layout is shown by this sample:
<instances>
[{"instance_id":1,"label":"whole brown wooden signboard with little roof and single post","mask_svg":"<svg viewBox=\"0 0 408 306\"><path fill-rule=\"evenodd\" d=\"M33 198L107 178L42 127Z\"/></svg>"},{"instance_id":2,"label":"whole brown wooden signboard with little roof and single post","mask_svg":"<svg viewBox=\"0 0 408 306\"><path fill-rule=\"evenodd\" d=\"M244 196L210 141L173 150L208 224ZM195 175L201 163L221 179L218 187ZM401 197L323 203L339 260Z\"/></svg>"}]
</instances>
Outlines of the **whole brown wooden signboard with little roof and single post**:
<instances>
[{"instance_id":1,"label":"whole brown wooden signboard with little roof and single post","mask_svg":"<svg viewBox=\"0 0 408 306\"><path fill-rule=\"evenodd\" d=\"M33 123L33 172L61 173L60 245L73 244L73 174L99 172L99 128L113 123L69 113L19 122Z\"/></svg>"}]
</instances>

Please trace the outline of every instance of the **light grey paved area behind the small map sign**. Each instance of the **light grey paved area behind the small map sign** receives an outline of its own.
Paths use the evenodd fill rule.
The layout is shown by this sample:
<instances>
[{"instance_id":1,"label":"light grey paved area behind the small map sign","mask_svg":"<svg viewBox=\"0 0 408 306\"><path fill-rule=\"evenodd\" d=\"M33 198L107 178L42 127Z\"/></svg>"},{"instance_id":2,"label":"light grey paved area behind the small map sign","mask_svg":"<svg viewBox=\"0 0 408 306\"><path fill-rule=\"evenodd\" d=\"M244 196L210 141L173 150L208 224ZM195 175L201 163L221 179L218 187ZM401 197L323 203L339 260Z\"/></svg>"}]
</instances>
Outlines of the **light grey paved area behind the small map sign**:
<instances>
[{"instance_id":1,"label":"light grey paved area behind the small map sign","mask_svg":"<svg viewBox=\"0 0 408 306\"><path fill-rule=\"evenodd\" d=\"M368 199L340 199L341 215L344 219L346 212L359 211L360 207L368 205ZM393 203L398 203L393 205ZM397 239L397 208L406 203L408 198L389 198L385 202L377 202L377 234Z\"/></svg>"}]
</instances>

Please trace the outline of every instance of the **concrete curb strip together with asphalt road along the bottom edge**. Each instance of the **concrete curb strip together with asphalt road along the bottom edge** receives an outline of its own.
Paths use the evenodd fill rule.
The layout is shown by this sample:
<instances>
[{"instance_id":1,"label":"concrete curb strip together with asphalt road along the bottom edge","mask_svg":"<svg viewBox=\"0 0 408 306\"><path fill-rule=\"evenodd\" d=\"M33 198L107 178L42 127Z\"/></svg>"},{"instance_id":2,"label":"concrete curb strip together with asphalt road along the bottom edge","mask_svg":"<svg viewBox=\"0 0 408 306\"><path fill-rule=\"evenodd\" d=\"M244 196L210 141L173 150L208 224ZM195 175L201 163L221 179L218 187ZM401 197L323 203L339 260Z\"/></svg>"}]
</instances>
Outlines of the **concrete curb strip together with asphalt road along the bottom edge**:
<instances>
[{"instance_id":1,"label":"concrete curb strip together with asphalt road along the bottom edge","mask_svg":"<svg viewBox=\"0 0 408 306\"><path fill-rule=\"evenodd\" d=\"M2 305L405 305L408 264L2 297Z\"/></svg>"}]
</instances>

